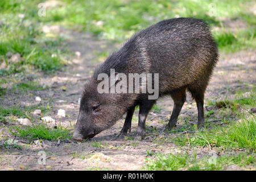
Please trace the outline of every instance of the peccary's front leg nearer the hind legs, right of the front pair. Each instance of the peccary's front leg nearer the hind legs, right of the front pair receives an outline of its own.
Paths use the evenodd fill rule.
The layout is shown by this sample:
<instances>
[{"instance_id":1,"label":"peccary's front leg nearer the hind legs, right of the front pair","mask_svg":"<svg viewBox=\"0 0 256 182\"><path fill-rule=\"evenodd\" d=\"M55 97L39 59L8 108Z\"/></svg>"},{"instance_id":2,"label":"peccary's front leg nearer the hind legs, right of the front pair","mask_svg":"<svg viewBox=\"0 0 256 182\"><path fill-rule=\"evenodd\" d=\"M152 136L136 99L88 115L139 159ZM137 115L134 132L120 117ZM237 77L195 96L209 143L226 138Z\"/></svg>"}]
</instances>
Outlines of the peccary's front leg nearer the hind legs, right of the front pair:
<instances>
[{"instance_id":1,"label":"peccary's front leg nearer the hind legs, right of the front pair","mask_svg":"<svg viewBox=\"0 0 256 182\"><path fill-rule=\"evenodd\" d=\"M136 131L137 139L141 140L146 134L146 118L147 114L155 104L155 100L143 100L139 104L139 123Z\"/></svg>"}]
</instances>

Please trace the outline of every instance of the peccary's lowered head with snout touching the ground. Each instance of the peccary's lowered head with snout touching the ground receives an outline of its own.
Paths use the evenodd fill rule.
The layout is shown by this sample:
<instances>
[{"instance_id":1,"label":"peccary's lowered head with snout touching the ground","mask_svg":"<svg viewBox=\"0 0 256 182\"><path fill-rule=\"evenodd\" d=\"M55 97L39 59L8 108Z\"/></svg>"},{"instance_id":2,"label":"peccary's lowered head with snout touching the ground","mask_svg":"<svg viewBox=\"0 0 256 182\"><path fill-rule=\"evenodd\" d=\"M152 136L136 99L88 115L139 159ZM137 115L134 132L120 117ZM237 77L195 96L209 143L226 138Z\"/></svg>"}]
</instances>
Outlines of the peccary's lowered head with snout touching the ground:
<instances>
[{"instance_id":1,"label":"peccary's lowered head with snout touching the ground","mask_svg":"<svg viewBox=\"0 0 256 182\"><path fill-rule=\"evenodd\" d=\"M96 80L91 80L85 85L73 133L75 140L93 138L113 126L126 111L127 97L116 93L98 93L97 84Z\"/></svg>"}]
</instances>

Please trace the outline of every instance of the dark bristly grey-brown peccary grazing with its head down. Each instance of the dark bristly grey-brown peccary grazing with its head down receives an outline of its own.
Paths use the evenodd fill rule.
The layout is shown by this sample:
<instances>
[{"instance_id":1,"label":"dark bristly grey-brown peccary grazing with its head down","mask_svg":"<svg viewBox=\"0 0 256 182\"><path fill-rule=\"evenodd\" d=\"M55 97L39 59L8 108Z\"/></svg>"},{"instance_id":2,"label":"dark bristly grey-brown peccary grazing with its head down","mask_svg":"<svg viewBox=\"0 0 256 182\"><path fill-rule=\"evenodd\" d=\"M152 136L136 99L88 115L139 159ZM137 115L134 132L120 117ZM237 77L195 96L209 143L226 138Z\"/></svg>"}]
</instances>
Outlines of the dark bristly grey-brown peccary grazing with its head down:
<instances>
[{"instance_id":1,"label":"dark bristly grey-brown peccary grazing with its head down","mask_svg":"<svg viewBox=\"0 0 256 182\"><path fill-rule=\"evenodd\" d=\"M113 126L125 113L120 135L127 134L131 131L131 119L137 105L139 122L136 135L143 137L145 134L146 117L156 99L148 99L148 92L99 93L97 87L102 80L98 80L98 75L106 73L110 76L110 69L126 75L159 74L159 97L170 95L174 100L174 109L166 126L168 130L176 126L188 90L196 101L198 126L203 126L204 92L217 60L216 43L203 20L168 19L138 32L96 68L85 85L73 139L92 138Z\"/></svg>"}]
</instances>

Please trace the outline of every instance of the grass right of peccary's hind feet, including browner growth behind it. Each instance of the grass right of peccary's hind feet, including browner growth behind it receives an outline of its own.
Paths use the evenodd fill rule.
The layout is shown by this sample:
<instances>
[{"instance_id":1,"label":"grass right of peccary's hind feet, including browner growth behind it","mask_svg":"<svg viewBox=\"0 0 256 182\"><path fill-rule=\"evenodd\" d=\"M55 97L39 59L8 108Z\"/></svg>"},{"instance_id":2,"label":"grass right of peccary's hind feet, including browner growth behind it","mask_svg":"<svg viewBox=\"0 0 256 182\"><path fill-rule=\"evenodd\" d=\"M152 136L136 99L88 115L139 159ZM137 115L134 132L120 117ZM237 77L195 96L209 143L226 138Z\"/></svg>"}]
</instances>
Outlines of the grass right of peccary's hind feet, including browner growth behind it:
<instances>
[{"instance_id":1,"label":"grass right of peccary's hind feet, including browner growth behind it","mask_svg":"<svg viewBox=\"0 0 256 182\"><path fill-rule=\"evenodd\" d=\"M207 105L212 110L205 113L206 126L197 130L195 125L186 125L177 131L192 131L188 133L191 146L220 147L231 150L254 151L256 146L256 116L250 109L256 106L255 88L237 90L233 99L210 100ZM210 121L217 121L210 122ZM170 134L176 133L176 130ZM171 138L177 145L186 146L187 134Z\"/></svg>"}]
</instances>

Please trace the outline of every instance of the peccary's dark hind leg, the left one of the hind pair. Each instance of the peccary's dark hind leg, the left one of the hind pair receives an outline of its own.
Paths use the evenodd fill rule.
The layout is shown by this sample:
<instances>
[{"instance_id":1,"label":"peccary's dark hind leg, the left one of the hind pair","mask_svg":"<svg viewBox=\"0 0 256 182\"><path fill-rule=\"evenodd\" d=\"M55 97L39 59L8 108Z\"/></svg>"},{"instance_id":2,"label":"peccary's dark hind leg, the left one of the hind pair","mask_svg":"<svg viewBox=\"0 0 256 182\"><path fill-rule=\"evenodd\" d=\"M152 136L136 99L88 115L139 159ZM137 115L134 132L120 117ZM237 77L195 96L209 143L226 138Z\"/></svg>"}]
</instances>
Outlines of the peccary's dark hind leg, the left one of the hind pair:
<instances>
[{"instance_id":1,"label":"peccary's dark hind leg, the left one of the hind pair","mask_svg":"<svg viewBox=\"0 0 256 182\"><path fill-rule=\"evenodd\" d=\"M186 101L186 88L182 88L174 93L171 93L171 97L174 100L174 109L172 110L170 121L166 126L167 130L171 130L177 125L177 117L179 116L180 110Z\"/></svg>"}]
</instances>

